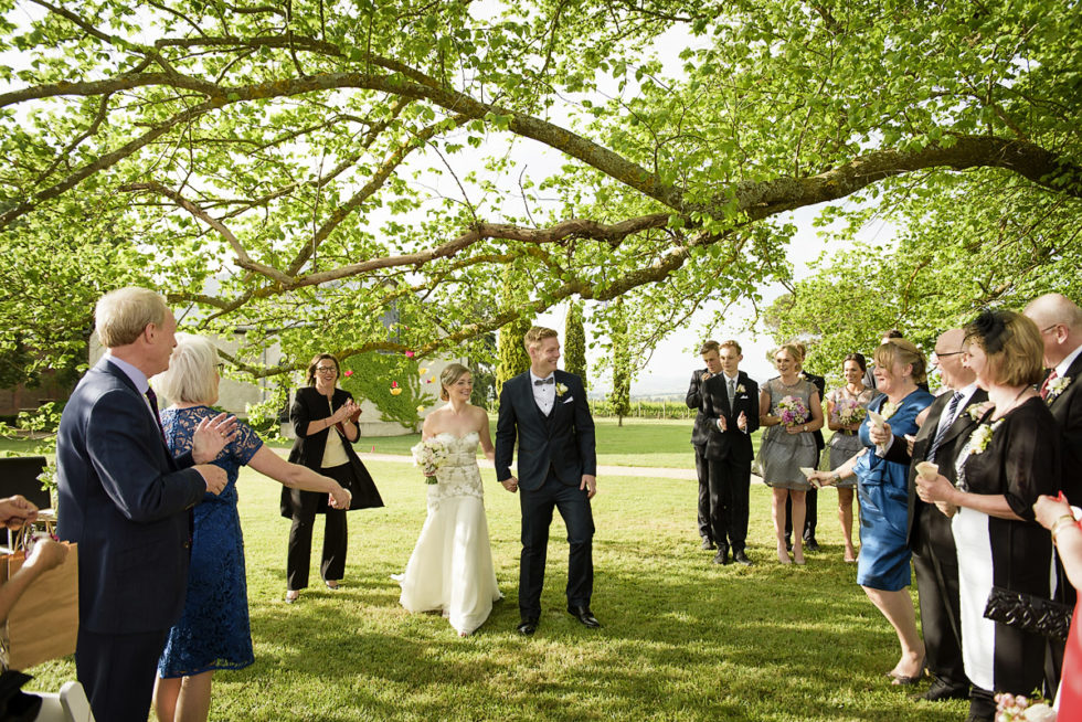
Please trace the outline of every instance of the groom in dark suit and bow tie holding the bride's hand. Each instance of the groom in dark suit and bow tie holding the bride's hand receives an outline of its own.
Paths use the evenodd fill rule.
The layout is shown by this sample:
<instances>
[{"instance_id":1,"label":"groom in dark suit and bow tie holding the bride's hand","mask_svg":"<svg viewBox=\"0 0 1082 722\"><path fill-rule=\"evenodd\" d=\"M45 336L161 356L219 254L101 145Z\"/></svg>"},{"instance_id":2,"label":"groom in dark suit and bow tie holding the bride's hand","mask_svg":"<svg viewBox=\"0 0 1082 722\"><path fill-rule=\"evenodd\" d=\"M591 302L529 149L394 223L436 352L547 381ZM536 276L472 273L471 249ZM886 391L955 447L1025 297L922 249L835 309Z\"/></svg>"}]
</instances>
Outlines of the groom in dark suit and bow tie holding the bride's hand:
<instances>
[{"instance_id":1,"label":"groom in dark suit and bow tie holding the bride's hand","mask_svg":"<svg viewBox=\"0 0 1082 722\"><path fill-rule=\"evenodd\" d=\"M530 370L503 384L496 424L496 478L522 496L522 559L519 570L518 630L537 631L541 617L545 552L552 509L567 525L567 612L587 627L601 624L590 610L594 587L591 543L594 519L590 500L597 493L594 421L579 376L556 371L560 341L550 328L527 331ZM511 476L515 439L519 440L518 473Z\"/></svg>"}]
</instances>

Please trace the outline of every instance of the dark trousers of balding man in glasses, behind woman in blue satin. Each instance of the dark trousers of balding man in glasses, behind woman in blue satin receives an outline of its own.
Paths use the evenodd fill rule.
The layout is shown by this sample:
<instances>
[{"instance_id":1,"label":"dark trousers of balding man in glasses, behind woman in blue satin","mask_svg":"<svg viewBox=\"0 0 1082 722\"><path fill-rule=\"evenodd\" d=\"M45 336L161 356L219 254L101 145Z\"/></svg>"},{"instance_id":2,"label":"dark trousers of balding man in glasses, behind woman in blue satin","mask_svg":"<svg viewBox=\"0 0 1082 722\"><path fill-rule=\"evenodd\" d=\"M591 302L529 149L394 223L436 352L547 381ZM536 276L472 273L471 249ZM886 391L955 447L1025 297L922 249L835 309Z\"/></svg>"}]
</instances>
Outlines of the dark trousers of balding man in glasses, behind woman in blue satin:
<instances>
[{"instance_id":1,"label":"dark trousers of balding man in glasses, behind woman in blue satin","mask_svg":"<svg viewBox=\"0 0 1082 722\"><path fill-rule=\"evenodd\" d=\"M917 513L913 567L929 670L941 683L966 691L969 680L962 663L958 553L951 520L931 505L923 505Z\"/></svg>"}]
</instances>

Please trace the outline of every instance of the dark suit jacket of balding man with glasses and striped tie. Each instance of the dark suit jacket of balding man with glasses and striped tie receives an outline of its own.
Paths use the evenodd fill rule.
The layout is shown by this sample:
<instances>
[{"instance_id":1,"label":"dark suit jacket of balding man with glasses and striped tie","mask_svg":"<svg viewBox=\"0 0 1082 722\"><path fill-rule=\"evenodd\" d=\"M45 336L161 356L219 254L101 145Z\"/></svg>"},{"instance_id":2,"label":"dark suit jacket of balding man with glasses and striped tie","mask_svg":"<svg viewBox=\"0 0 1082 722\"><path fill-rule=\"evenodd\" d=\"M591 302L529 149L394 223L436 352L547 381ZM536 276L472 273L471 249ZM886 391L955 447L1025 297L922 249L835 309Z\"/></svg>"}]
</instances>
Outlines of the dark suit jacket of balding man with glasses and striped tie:
<instances>
[{"instance_id":1,"label":"dark suit jacket of balding man with glasses and striped tie","mask_svg":"<svg viewBox=\"0 0 1082 722\"><path fill-rule=\"evenodd\" d=\"M916 496L916 465L921 461L927 459L927 450L932 445L932 440L935 438L935 433L940 427L940 417L946 411L947 405L951 403L951 396L953 393L944 393L936 396L932 405L929 406L927 416L924 420L924 425L921 429L916 432L916 439L913 442L913 456L910 457L906 450L906 442L902 436L894 436L894 440L891 443L890 448L887 449L887 460L898 461L899 464L909 464L909 516L905 524L905 540L906 543L913 545L916 539L916 527L920 523L921 513L929 506L927 502L921 501L921 498ZM969 434L977 426L977 422L973 421L969 414L966 413L966 408L974 406L976 404L982 404L988 401L988 392L977 389L969 396L966 405L958 412L955 417L954 423L947 428L946 436L940 443L940 448L935 452L936 465L940 467L940 474L945 476L951 484L955 482L955 470L954 470L954 457L957 452L962 450L961 444L965 443L965 439L969 438ZM872 452L869 452L872 453Z\"/></svg>"}]
</instances>

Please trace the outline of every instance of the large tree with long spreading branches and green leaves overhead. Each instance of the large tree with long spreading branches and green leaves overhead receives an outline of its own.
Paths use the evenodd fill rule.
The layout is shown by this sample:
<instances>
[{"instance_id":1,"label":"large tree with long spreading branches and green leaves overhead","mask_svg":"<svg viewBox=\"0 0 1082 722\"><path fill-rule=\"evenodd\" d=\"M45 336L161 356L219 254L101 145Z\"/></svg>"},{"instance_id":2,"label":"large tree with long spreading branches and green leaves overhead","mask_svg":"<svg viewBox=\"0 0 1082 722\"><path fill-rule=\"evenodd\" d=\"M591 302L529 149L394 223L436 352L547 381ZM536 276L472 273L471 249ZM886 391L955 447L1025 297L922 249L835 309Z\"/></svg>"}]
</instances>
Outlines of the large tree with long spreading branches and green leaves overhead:
<instances>
[{"instance_id":1,"label":"large tree with long spreading branches and green leaves overhead","mask_svg":"<svg viewBox=\"0 0 1082 722\"><path fill-rule=\"evenodd\" d=\"M575 297L626 297L649 341L786 280L800 206L969 209L987 237L980 210L1025 197L1022 245L1079 227L1075 2L0 11L0 242L42 256L7 269L0 350L64 348L52 312L85 336L86 299L131 280L243 327L255 375L291 368L262 339L423 355Z\"/></svg>"}]
</instances>

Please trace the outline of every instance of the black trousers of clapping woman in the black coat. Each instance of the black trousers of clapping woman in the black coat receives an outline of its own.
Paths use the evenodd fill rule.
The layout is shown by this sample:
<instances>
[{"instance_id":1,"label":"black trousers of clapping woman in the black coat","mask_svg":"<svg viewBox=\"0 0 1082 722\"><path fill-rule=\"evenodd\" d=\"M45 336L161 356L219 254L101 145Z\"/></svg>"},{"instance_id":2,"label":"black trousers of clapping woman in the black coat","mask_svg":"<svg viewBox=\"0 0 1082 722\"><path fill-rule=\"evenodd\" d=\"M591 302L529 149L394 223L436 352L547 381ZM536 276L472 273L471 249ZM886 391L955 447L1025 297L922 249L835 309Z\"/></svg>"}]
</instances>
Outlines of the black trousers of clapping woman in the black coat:
<instances>
[{"instance_id":1,"label":"black trousers of clapping woman in the black coat","mask_svg":"<svg viewBox=\"0 0 1082 722\"><path fill-rule=\"evenodd\" d=\"M349 488L352 469L348 464L320 469L320 474L331 477L339 485ZM295 491L301 505L293 507L293 525L289 528L289 546L286 552L286 588L304 590L308 586L308 567L311 565L311 532L316 524L316 508L325 493L316 491ZM337 581L346 575L346 550L349 545L349 530L344 509L327 509L323 524L323 551L319 572L325 580Z\"/></svg>"}]
</instances>

